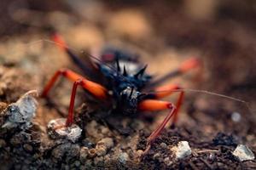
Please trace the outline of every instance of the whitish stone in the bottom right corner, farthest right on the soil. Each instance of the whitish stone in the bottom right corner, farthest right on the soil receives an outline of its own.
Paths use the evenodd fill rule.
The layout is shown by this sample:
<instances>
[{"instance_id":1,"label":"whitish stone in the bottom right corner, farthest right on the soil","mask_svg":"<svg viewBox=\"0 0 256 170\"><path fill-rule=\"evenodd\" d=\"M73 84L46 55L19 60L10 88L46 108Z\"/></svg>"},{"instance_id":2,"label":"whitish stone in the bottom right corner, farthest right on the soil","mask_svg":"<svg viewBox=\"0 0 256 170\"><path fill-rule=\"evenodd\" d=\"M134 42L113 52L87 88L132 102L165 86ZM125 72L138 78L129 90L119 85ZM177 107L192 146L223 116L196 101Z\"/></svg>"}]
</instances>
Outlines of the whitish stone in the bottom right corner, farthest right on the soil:
<instances>
[{"instance_id":1,"label":"whitish stone in the bottom right corner, farthest right on the soil","mask_svg":"<svg viewBox=\"0 0 256 170\"><path fill-rule=\"evenodd\" d=\"M236 147L236 150L233 151L233 155L237 156L240 161L250 161L255 159L253 151L243 144L239 144Z\"/></svg>"}]
</instances>

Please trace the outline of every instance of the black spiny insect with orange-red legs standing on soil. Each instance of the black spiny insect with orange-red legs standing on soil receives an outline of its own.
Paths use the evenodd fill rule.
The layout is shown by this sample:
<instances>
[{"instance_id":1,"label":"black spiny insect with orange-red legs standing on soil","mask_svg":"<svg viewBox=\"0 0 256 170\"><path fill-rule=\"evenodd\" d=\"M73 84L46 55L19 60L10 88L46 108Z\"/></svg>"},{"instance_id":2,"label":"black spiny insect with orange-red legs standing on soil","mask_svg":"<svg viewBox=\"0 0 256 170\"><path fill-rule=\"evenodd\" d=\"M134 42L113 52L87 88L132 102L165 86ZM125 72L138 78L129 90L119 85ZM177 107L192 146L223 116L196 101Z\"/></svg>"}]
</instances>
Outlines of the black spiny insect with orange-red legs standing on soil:
<instances>
[{"instance_id":1,"label":"black spiny insect with orange-red legs standing on soil","mask_svg":"<svg viewBox=\"0 0 256 170\"><path fill-rule=\"evenodd\" d=\"M108 48L103 51L101 59L93 61L87 58L87 62L79 59L79 56L74 54L71 49L67 48L66 43L60 35L55 34L54 40L58 46L64 50L73 62L79 66L85 76L68 70L61 69L55 72L55 75L46 84L42 96L46 97L58 79L58 77L66 77L73 82L73 90L70 98L66 127L73 125L73 109L76 91L79 86L83 87L89 94L96 99L109 101L113 111L119 111L124 115L136 115L143 111L164 111L169 113L163 122L160 123L154 132L147 139L147 148L145 153L150 149L150 145L160 135L166 127L166 123L171 120L172 126L177 122L177 114L183 102L184 92L181 90L176 104L170 101L161 100L162 98L171 95L173 90L182 89L176 84L168 84L159 86L171 77L182 75L192 69L198 68L201 64L199 59L191 58L183 62L179 68L157 80L146 73L147 65L142 65L137 60L137 57L125 53L123 51ZM90 72L90 74L88 74ZM92 72L92 74L91 74ZM91 77L91 79L87 78ZM147 89L154 89L147 93ZM163 93L157 93L162 91Z\"/></svg>"}]
</instances>

